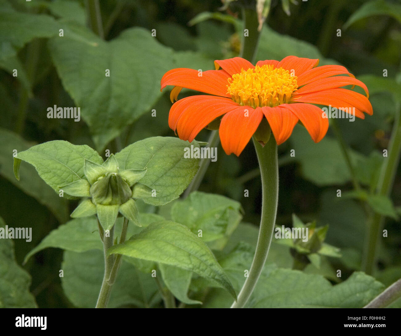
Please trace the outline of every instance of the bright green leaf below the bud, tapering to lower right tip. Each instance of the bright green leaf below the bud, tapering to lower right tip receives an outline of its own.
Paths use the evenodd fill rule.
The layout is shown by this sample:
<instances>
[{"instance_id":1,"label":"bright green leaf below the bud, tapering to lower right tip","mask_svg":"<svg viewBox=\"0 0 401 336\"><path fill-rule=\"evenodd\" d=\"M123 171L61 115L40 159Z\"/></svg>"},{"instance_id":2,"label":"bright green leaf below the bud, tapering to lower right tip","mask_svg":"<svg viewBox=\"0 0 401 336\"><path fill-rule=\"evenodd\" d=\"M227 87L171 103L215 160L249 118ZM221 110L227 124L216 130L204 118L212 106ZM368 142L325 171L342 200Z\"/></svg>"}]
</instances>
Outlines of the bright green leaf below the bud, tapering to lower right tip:
<instances>
[{"instance_id":1,"label":"bright green leaf below the bud, tapering to lower right tip","mask_svg":"<svg viewBox=\"0 0 401 336\"><path fill-rule=\"evenodd\" d=\"M120 253L192 271L219 283L236 298L230 280L213 253L182 224L172 221L152 223L129 241L111 247L108 253Z\"/></svg>"}]
</instances>

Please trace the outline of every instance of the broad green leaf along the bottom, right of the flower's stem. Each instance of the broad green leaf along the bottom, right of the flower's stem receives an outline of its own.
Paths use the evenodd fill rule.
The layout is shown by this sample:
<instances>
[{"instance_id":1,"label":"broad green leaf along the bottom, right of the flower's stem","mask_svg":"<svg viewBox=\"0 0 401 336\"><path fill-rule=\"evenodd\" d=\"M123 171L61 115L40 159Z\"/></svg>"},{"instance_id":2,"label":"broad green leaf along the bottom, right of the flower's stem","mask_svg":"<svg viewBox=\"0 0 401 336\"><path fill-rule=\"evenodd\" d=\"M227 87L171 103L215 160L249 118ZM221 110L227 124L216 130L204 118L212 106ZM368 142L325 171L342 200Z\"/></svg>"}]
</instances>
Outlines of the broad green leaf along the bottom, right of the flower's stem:
<instances>
[{"instance_id":1,"label":"broad green leaf along the bottom, right of the flower's stem","mask_svg":"<svg viewBox=\"0 0 401 336\"><path fill-rule=\"evenodd\" d=\"M321 275L276 269L259 279L248 308L362 308L384 285L363 272L331 285Z\"/></svg>"}]
</instances>

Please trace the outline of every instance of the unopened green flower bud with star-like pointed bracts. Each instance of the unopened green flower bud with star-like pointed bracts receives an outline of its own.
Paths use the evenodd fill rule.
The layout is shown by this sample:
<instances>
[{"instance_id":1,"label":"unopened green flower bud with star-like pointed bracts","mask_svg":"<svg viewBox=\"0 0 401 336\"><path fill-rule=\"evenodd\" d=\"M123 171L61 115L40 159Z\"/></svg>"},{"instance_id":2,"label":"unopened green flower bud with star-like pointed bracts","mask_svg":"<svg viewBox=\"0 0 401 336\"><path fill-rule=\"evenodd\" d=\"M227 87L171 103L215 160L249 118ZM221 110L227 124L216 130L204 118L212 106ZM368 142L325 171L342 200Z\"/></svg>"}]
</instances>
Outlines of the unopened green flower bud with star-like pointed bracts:
<instances>
[{"instance_id":1,"label":"unopened green flower bud with star-like pointed bracts","mask_svg":"<svg viewBox=\"0 0 401 336\"><path fill-rule=\"evenodd\" d=\"M136 189L151 192L151 189L137 183L146 174L146 169L126 169L119 171L118 162L114 155L98 164L85 159L81 178L64 186L60 186L66 194L76 197L84 197L82 202L71 214L71 217L87 217L97 214L97 218L103 229L110 229L117 218L118 213L141 226L138 221L138 208L132 197L137 193Z\"/></svg>"}]
</instances>

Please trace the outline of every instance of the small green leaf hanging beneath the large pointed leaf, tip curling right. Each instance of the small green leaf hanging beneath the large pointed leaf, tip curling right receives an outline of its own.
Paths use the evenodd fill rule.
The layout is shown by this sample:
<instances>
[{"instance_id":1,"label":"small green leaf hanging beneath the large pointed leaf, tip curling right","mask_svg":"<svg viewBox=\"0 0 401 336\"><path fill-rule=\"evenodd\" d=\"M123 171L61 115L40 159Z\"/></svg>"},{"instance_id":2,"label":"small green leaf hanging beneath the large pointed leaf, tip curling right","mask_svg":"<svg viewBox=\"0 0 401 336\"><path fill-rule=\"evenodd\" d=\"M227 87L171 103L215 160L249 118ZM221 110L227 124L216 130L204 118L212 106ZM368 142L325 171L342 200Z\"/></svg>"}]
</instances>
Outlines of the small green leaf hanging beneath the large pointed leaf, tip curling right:
<instances>
[{"instance_id":1,"label":"small green leaf hanging beneath the large pointed leaf, tip curling right","mask_svg":"<svg viewBox=\"0 0 401 336\"><path fill-rule=\"evenodd\" d=\"M163 281L173 295L184 304L201 304L202 302L191 300L187 296L191 282L192 272L175 266L159 264Z\"/></svg>"}]
</instances>

